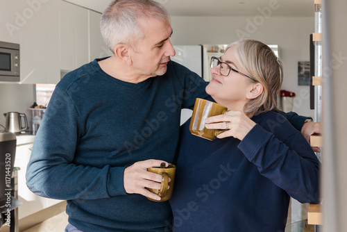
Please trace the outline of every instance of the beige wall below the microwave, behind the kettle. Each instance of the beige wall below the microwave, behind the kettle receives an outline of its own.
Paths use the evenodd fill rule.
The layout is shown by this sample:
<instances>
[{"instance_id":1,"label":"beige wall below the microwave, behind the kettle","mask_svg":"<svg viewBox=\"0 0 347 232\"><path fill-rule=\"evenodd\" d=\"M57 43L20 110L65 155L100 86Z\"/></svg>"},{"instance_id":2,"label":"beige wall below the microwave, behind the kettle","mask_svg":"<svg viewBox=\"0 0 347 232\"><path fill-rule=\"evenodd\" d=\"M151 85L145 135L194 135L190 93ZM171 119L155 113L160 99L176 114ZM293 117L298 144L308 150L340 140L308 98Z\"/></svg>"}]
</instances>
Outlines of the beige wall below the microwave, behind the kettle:
<instances>
[{"instance_id":1,"label":"beige wall below the microwave, behind the kettle","mask_svg":"<svg viewBox=\"0 0 347 232\"><path fill-rule=\"evenodd\" d=\"M26 113L34 102L34 86L28 84L0 83L0 124L5 126L3 113ZM26 115L28 116L28 115ZM0 131L3 128L0 126Z\"/></svg>"}]
</instances>

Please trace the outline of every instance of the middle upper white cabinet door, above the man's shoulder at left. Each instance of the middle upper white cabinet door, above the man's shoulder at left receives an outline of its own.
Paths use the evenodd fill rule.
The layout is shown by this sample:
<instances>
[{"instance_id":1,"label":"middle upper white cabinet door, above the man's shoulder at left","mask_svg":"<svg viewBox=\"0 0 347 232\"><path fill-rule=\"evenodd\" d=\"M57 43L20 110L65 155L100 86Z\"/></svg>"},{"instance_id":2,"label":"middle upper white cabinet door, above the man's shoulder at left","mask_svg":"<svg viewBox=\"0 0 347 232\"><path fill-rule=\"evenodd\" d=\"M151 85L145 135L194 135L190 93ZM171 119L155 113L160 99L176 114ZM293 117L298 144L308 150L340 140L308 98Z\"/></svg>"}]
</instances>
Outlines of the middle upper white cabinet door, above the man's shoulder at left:
<instances>
[{"instance_id":1,"label":"middle upper white cabinet door, above the man's shoulder at left","mask_svg":"<svg viewBox=\"0 0 347 232\"><path fill-rule=\"evenodd\" d=\"M60 69L71 71L88 62L88 10L60 1Z\"/></svg>"}]
</instances>

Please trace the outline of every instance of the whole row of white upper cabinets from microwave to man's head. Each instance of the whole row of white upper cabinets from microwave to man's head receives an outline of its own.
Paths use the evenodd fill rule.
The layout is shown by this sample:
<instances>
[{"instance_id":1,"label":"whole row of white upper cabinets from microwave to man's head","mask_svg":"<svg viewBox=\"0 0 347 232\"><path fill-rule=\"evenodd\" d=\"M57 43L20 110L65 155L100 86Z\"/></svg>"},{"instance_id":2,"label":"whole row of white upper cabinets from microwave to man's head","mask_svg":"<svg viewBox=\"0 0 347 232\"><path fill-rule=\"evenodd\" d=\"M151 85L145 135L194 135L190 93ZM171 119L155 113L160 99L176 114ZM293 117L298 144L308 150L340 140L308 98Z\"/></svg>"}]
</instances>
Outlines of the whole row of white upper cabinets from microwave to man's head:
<instances>
[{"instance_id":1,"label":"whole row of white upper cabinets from microwave to man's head","mask_svg":"<svg viewBox=\"0 0 347 232\"><path fill-rule=\"evenodd\" d=\"M61 72L110 56L100 18L62 0L1 0L0 40L20 44L20 82L56 84Z\"/></svg>"}]
</instances>

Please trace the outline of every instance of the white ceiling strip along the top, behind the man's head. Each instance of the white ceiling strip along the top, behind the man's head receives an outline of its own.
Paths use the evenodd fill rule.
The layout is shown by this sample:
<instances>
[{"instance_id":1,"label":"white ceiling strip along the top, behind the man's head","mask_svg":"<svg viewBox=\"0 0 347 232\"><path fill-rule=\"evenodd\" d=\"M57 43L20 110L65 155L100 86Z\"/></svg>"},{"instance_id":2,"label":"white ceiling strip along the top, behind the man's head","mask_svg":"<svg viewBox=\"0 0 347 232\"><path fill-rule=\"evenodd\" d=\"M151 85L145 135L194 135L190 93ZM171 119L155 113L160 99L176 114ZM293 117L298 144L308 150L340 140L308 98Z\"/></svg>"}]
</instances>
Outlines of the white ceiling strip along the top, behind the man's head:
<instances>
[{"instance_id":1,"label":"white ceiling strip along the top, behind the man's head","mask_svg":"<svg viewBox=\"0 0 347 232\"><path fill-rule=\"evenodd\" d=\"M111 0L65 0L103 13ZM313 17L313 0L155 0L171 16Z\"/></svg>"}]
</instances>

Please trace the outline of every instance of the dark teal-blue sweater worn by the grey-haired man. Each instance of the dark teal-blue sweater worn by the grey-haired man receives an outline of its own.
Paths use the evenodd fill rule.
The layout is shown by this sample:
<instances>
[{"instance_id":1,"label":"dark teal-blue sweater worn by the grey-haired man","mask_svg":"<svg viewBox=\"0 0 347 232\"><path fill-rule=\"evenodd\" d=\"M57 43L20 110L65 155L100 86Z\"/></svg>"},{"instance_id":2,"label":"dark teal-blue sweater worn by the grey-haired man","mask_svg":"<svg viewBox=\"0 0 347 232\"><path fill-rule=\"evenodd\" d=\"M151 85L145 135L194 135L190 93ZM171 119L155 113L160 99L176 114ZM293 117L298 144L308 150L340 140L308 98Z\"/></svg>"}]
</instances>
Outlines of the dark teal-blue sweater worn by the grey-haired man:
<instances>
[{"instance_id":1,"label":"dark teal-blue sweater worn by the grey-haired man","mask_svg":"<svg viewBox=\"0 0 347 232\"><path fill-rule=\"evenodd\" d=\"M140 160L174 161L180 110L210 98L206 83L174 62L163 76L127 83L96 61L56 85L35 138L28 188L66 199L69 222L82 231L164 231L169 203L126 194L124 169Z\"/></svg>"}]
</instances>

